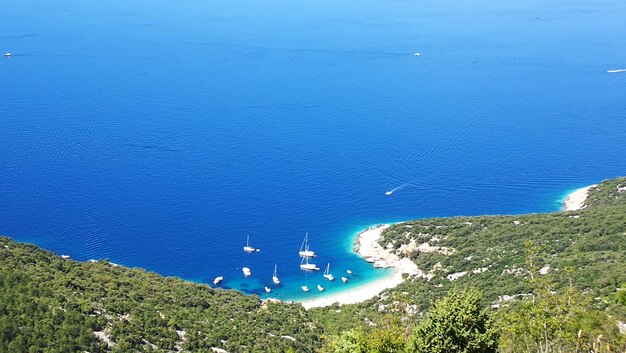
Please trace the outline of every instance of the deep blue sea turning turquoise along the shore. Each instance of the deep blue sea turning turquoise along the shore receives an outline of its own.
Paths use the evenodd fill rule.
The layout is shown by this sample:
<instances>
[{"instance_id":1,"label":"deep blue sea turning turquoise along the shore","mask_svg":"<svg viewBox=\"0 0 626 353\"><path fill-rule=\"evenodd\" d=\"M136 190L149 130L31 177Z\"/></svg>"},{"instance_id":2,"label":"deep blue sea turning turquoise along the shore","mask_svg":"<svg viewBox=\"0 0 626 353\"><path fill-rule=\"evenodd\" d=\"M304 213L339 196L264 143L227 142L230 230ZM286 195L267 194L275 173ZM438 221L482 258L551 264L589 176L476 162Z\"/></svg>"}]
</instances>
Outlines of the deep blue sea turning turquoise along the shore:
<instances>
[{"instance_id":1,"label":"deep blue sea turning turquoise along the shore","mask_svg":"<svg viewBox=\"0 0 626 353\"><path fill-rule=\"evenodd\" d=\"M0 9L0 234L74 259L257 294L278 264L272 296L313 297L305 232L355 274L332 292L379 275L350 251L366 226L553 211L626 174L623 0Z\"/></svg>"}]
</instances>

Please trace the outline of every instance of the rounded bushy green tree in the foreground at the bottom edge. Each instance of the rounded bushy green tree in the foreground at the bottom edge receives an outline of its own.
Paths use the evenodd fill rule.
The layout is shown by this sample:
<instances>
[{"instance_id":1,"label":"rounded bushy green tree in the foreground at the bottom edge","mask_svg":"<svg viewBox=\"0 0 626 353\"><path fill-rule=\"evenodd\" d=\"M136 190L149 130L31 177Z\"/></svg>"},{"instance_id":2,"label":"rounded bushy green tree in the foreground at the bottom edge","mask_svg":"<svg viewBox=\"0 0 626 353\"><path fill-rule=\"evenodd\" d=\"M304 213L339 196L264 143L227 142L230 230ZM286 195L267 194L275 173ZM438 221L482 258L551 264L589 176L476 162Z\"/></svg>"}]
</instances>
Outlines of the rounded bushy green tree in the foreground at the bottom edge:
<instances>
[{"instance_id":1,"label":"rounded bushy green tree in the foreground at the bottom edge","mask_svg":"<svg viewBox=\"0 0 626 353\"><path fill-rule=\"evenodd\" d=\"M480 305L480 294L452 290L417 325L407 352L489 353L497 346L498 331L491 314Z\"/></svg>"}]
</instances>

